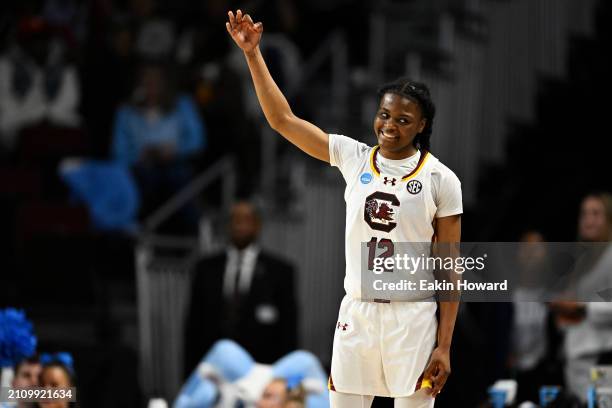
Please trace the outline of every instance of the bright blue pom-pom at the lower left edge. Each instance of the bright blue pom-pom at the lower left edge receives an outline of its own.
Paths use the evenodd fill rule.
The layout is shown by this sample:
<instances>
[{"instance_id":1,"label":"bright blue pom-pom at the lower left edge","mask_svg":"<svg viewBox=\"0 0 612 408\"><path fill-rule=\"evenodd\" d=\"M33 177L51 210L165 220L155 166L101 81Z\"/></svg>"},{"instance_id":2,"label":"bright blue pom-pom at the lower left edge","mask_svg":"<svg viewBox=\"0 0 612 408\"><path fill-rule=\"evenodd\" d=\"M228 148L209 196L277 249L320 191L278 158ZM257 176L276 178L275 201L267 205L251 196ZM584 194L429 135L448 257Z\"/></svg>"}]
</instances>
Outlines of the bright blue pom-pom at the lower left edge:
<instances>
[{"instance_id":1,"label":"bright blue pom-pom at the lower left edge","mask_svg":"<svg viewBox=\"0 0 612 408\"><path fill-rule=\"evenodd\" d=\"M36 351L32 323L23 310L0 310L0 367L10 367Z\"/></svg>"}]
</instances>

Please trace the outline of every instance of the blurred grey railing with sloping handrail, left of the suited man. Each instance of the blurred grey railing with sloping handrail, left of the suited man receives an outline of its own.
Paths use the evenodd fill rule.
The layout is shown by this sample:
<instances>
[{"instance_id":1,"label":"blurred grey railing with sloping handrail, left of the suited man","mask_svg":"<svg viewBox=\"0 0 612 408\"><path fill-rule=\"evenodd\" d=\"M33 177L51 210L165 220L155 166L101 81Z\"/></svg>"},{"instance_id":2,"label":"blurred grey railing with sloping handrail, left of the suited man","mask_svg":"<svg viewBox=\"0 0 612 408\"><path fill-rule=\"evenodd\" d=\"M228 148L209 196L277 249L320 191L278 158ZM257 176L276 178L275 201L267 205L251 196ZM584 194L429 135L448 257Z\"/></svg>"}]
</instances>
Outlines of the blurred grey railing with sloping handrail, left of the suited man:
<instances>
[{"instance_id":1,"label":"blurred grey railing with sloping handrail, left of the suited man","mask_svg":"<svg viewBox=\"0 0 612 408\"><path fill-rule=\"evenodd\" d=\"M213 249L215 242L198 237L164 236L155 231L217 180L222 182L223 208L229 208L235 196L236 171L233 158L225 157L155 211L144 222L138 236L135 263L140 380L146 397L171 401L179 390L191 269L200 253Z\"/></svg>"}]
</instances>

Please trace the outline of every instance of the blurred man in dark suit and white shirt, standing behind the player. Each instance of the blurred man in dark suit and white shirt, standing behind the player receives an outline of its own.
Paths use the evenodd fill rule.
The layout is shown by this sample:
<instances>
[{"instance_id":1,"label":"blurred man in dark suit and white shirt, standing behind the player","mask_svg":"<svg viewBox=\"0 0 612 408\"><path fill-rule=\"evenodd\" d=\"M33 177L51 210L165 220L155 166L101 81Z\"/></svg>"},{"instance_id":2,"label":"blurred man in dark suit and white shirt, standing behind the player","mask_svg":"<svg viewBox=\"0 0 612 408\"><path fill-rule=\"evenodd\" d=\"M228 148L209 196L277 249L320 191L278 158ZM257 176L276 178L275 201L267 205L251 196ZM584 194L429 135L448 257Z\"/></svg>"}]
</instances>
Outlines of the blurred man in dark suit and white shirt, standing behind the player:
<instances>
[{"instance_id":1,"label":"blurred man in dark suit and white shirt, standing behind the player","mask_svg":"<svg viewBox=\"0 0 612 408\"><path fill-rule=\"evenodd\" d=\"M197 263L186 321L186 373L222 338L264 364L296 349L294 268L257 245L260 227L253 205L235 204L227 249Z\"/></svg>"}]
</instances>

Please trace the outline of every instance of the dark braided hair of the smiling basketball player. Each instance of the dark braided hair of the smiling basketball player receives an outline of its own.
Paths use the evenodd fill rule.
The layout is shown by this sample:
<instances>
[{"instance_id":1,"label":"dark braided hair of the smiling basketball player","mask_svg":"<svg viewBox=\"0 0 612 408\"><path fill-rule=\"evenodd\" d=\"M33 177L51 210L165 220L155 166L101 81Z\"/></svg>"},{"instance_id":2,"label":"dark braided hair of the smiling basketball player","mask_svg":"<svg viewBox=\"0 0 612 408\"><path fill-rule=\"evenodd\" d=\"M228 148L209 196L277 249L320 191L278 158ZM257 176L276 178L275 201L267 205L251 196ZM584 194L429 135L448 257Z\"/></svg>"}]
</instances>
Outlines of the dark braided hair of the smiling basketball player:
<instances>
[{"instance_id":1,"label":"dark braided hair of the smiling basketball player","mask_svg":"<svg viewBox=\"0 0 612 408\"><path fill-rule=\"evenodd\" d=\"M436 115L436 106L431 100L429 88L422 82L412 81L408 78L398 78L393 82L383 85L378 90L379 102L387 93L396 94L416 102L421 108L421 114L425 118L423 131L415 136L414 146L417 149L430 150L429 139L433 130L433 119Z\"/></svg>"}]
</instances>

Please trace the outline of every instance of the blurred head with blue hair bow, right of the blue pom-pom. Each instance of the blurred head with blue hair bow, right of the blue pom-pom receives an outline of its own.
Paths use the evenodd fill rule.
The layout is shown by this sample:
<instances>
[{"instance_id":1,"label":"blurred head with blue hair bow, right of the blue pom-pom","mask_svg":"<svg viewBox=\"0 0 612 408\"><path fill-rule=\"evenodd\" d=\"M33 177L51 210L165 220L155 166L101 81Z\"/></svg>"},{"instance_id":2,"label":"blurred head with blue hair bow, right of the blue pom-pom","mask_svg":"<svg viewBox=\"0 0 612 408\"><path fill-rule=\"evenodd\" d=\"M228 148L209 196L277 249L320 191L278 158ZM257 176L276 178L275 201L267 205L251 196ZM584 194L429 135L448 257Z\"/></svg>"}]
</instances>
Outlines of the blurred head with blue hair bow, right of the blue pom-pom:
<instances>
[{"instance_id":1,"label":"blurred head with blue hair bow, right of the blue pom-pom","mask_svg":"<svg viewBox=\"0 0 612 408\"><path fill-rule=\"evenodd\" d=\"M71 388L75 386L72 356L66 352L40 355L42 371L40 386L46 388ZM67 401L41 402L41 408L67 408L74 405Z\"/></svg>"}]
</instances>

